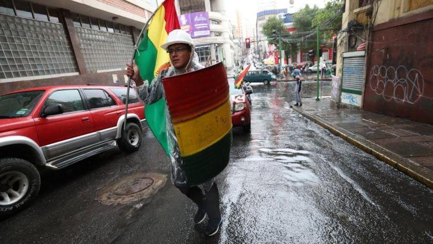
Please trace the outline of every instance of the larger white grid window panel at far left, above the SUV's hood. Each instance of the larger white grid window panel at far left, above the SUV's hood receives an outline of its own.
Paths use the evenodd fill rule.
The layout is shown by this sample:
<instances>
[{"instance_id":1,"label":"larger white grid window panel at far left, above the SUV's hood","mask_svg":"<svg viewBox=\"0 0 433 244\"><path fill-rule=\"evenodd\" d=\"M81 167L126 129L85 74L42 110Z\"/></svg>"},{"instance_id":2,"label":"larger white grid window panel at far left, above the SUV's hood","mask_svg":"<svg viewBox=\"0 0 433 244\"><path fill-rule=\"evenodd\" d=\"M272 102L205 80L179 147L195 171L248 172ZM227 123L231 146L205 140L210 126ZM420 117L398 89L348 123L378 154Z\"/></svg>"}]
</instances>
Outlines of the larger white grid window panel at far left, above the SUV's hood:
<instances>
[{"instance_id":1,"label":"larger white grid window panel at far left, above the SUV's hood","mask_svg":"<svg viewBox=\"0 0 433 244\"><path fill-rule=\"evenodd\" d=\"M62 24L0 14L0 79L77 72Z\"/></svg>"}]
</instances>

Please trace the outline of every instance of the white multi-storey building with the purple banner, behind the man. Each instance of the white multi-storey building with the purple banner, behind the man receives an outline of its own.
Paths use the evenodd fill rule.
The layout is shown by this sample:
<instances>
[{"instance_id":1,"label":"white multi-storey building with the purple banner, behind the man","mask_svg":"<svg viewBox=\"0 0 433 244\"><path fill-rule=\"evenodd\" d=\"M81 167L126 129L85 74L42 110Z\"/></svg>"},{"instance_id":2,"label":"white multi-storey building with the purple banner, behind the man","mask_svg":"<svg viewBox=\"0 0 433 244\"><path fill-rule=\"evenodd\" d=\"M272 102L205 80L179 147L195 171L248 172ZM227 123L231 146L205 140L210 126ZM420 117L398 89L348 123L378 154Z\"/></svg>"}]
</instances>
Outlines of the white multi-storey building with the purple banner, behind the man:
<instances>
[{"instance_id":1,"label":"white multi-storey building with the purple banner, behind the man","mask_svg":"<svg viewBox=\"0 0 433 244\"><path fill-rule=\"evenodd\" d=\"M237 60L238 43L234 40L233 26L228 21L224 0L177 0L179 15L207 12L209 35L193 37L199 61L204 66L223 62L227 70L232 70Z\"/></svg>"}]
</instances>

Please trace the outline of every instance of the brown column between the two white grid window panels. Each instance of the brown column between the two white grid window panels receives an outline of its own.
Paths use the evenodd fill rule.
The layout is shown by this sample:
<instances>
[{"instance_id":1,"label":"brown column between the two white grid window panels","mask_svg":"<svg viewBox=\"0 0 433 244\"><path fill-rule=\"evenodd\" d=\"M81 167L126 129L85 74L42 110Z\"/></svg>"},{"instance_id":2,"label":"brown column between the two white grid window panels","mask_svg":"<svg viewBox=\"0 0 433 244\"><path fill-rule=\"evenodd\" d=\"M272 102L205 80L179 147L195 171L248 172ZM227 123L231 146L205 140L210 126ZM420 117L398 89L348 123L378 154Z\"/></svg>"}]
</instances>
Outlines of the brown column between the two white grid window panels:
<instances>
[{"instance_id":1,"label":"brown column between the two white grid window panels","mask_svg":"<svg viewBox=\"0 0 433 244\"><path fill-rule=\"evenodd\" d=\"M84 63L84 56L80 48L80 40L78 40L77 33L75 32L74 22L72 21L71 11L68 9L60 9L63 27L66 31L69 41L71 42L72 50L74 51L75 60L77 61L78 72L80 74L87 73L86 64Z\"/></svg>"}]
</instances>

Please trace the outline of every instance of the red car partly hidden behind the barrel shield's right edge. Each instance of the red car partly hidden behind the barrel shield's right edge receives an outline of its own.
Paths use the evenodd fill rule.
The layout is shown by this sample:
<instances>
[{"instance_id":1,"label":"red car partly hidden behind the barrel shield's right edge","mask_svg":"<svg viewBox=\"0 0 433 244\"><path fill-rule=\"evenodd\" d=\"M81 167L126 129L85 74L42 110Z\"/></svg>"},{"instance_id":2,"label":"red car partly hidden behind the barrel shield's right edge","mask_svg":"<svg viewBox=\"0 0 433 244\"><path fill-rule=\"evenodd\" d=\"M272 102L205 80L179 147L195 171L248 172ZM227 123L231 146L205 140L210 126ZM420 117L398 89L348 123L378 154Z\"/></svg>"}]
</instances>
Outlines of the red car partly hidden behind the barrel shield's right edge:
<instances>
[{"instance_id":1,"label":"red car partly hidden behind the barrel shield's right edge","mask_svg":"<svg viewBox=\"0 0 433 244\"><path fill-rule=\"evenodd\" d=\"M251 131L251 106L247 95L252 93L252 89L246 91L243 86L236 88L234 82L229 82L229 87L233 127L242 127L244 132L249 133Z\"/></svg>"}]
</instances>

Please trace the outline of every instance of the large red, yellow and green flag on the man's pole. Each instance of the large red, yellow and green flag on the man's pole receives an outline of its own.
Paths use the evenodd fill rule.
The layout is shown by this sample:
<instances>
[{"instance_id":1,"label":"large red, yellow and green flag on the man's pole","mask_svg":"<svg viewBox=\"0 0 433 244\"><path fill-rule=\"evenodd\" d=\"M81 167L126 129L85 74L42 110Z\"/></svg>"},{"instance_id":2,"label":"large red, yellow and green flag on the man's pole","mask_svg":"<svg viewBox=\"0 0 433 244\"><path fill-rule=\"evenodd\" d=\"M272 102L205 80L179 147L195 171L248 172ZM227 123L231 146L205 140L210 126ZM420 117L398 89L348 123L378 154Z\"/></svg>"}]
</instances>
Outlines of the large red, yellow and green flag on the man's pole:
<instances>
[{"instance_id":1,"label":"large red, yellow and green flag on the man's pole","mask_svg":"<svg viewBox=\"0 0 433 244\"><path fill-rule=\"evenodd\" d=\"M138 46L138 53L135 54L135 63L140 69L140 76L143 80L148 80L149 85L159 70L167 68L170 59L161 45L166 42L168 34L175 29L180 29L180 25L174 0L165 0L156 9L149 28ZM145 115L149 127L168 155L165 101L160 99L154 104L146 105Z\"/></svg>"}]
</instances>

